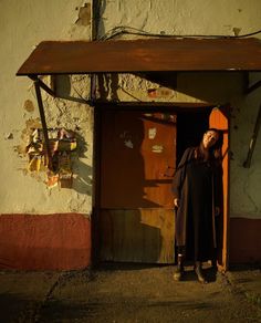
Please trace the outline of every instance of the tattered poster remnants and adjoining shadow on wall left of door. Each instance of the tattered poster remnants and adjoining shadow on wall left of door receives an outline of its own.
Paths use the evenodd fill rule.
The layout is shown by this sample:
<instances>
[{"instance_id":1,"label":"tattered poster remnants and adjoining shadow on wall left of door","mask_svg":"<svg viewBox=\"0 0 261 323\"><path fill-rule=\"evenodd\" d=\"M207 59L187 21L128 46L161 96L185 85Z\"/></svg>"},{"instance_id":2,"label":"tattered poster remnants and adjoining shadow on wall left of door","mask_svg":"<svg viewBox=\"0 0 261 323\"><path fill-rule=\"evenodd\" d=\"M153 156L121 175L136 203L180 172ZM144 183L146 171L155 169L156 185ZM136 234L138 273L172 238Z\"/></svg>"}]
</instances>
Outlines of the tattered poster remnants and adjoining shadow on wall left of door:
<instances>
[{"instance_id":1,"label":"tattered poster remnants and adjoining shadow on wall left of door","mask_svg":"<svg viewBox=\"0 0 261 323\"><path fill-rule=\"evenodd\" d=\"M49 156L44 146L42 128L31 128L25 147L28 170L32 177L46 174L44 183L49 188L60 186L81 194L92 195L92 167L86 165L87 143L77 132L65 128L49 128L52 170L48 168ZM84 158L85 163L82 162Z\"/></svg>"}]
</instances>

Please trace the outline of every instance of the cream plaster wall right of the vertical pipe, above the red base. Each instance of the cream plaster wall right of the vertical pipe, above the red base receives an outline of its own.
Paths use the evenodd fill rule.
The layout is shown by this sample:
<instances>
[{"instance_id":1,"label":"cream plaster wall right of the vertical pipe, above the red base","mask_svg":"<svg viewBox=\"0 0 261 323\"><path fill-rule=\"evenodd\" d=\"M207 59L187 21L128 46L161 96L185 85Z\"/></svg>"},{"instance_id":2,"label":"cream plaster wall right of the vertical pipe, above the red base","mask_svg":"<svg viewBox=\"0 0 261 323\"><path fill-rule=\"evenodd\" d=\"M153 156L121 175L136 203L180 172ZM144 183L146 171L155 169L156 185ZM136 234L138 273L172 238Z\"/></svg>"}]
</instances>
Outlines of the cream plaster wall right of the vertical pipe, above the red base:
<instances>
[{"instance_id":1,"label":"cream plaster wall right of the vertical pipe, above the red base","mask_svg":"<svg viewBox=\"0 0 261 323\"><path fill-rule=\"evenodd\" d=\"M146 0L135 1L135 6L127 0L101 0L100 3L101 38L111 38L119 30L118 27L124 27L125 30L134 33L144 31L175 35L242 35L260 30L259 0ZM115 38L142 37L144 35L117 34ZM261 38L261 34L254 37ZM260 74L252 74L250 81L260 77ZM260 135L251 168L246 169L242 164L254 127L261 90L248 96L243 95L243 79L239 73L178 74L176 87L170 81L168 86L164 86L133 75L100 80L101 95L109 100L150 101L148 90L153 88L158 91L158 96L153 101L231 103L230 216L260 219Z\"/></svg>"}]
</instances>

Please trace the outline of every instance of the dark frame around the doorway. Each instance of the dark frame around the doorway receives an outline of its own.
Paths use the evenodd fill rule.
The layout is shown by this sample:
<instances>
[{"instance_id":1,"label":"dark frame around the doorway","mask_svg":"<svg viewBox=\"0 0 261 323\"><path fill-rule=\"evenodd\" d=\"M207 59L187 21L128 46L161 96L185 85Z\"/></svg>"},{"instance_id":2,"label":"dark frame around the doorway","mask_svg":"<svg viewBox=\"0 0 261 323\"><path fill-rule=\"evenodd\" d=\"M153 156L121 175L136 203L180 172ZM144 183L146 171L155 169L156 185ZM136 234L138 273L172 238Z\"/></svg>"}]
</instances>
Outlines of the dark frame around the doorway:
<instances>
[{"instance_id":1,"label":"dark frame around the doorway","mask_svg":"<svg viewBox=\"0 0 261 323\"><path fill-rule=\"evenodd\" d=\"M122 110L122 111L148 111L148 112L173 112L179 113L186 110L187 112L194 111L196 108L213 108L217 107L215 104L206 104L206 103L171 103L171 102L98 102L95 103L94 106L94 149L93 149L93 212L92 212L92 264L95 265L100 263L100 250L101 250L101 242L100 242L100 232L98 232L98 221L100 221L100 205L101 205L101 177L100 177L100 169L101 169L101 116L104 110ZM228 117L228 149L230 144L230 118ZM228 200L227 200L227 216L226 222L223 223L223 250L222 250L222 265L219 265L220 271L226 271L228 269L228 260L229 260L229 246L228 246L228 235L229 235L229 163L228 160ZM226 235L226 237L225 237Z\"/></svg>"}]
</instances>

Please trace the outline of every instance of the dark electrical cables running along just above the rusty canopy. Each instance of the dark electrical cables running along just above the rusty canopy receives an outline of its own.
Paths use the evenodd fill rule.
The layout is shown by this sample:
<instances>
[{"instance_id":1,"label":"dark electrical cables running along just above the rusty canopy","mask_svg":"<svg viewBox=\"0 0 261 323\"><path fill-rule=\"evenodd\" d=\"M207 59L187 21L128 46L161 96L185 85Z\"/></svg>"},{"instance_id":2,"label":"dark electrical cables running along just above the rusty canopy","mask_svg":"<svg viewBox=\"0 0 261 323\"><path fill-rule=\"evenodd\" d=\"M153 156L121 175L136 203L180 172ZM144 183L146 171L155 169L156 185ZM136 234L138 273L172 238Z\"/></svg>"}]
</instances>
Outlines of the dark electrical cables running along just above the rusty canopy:
<instances>
[{"instance_id":1,"label":"dark electrical cables running along just above the rusty canopy","mask_svg":"<svg viewBox=\"0 0 261 323\"><path fill-rule=\"evenodd\" d=\"M135 34L135 35L145 35L145 37L157 37L157 38L205 38L205 39L240 39L247 38L254 34L261 33L261 30L242 34L242 35L206 35L206 34L165 34L165 33L150 33L144 30L139 30L133 27L118 25L108 30L104 35L100 37L98 40L109 40L121 34Z\"/></svg>"}]
</instances>

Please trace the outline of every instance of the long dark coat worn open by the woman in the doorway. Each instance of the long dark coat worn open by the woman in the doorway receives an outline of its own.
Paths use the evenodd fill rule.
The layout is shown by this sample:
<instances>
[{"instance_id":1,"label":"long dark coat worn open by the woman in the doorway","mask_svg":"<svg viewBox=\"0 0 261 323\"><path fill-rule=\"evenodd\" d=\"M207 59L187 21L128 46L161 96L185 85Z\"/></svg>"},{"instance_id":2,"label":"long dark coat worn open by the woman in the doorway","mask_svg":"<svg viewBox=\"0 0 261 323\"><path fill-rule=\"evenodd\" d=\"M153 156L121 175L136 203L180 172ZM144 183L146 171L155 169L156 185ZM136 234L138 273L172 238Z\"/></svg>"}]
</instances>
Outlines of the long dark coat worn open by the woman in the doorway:
<instances>
[{"instance_id":1,"label":"long dark coat worn open by the woman in the doorway","mask_svg":"<svg viewBox=\"0 0 261 323\"><path fill-rule=\"evenodd\" d=\"M190 185L188 181L187 177L187 168L189 168L191 165L190 163L195 163L195 147L187 148L186 152L184 153L184 156L177 167L175 177L174 177L174 183L173 183L173 192L174 192L174 198L179 199L179 208L176 209L176 221L175 221L175 233L176 233L176 243L177 246L184 246L186 247L186 252L190 254L191 258L195 257L194 251L191 251L191 243L194 241L189 241L188 235L189 232L192 232L191 230L191 208L195 206L191 206L190 201ZM221 174L221 166L220 167L211 167L209 168L210 176L209 180L210 183L210 192L207 192L208 198L206 197L206 204L208 204L208 208L210 210L209 213L209 219L208 223L205 225L205 241L203 241L203 247L199 251L201 254L200 258L202 259L196 259L196 260L208 260L210 259L209 257L210 253L213 253L213 249L217 247L216 242L216 227L215 227L215 208L219 207L221 208L222 204L222 174ZM202 192L206 195L206 192ZM210 199L210 200L209 200ZM208 237L207 237L208 236ZM191 239L190 239L191 240ZM188 243L189 241L189 243ZM201 242L202 243L202 242ZM188 250L188 244L189 249ZM197 256L196 256L197 257ZM205 259L203 259L205 258Z\"/></svg>"}]
</instances>

